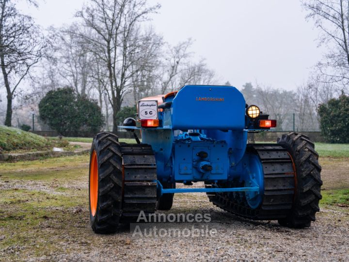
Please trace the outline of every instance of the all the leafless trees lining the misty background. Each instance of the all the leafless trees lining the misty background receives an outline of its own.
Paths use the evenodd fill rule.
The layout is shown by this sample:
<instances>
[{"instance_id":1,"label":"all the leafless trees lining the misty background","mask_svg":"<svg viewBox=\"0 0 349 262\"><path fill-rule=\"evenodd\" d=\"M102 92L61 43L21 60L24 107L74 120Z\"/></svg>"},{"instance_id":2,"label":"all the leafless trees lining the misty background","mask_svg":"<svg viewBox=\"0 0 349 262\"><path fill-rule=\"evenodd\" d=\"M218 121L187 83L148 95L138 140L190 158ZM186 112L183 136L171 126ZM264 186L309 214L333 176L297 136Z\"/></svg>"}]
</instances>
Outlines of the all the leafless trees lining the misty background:
<instances>
[{"instance_id":1,"label":"all the leafless trees lining the misty background","mask_svg":"<svg viewBox=\"0 0 349 262\"><path fill-rule=\"evenodd\" d=\"M18 1L0 0L0 89L6 92L5 125L12 125L14 98L35 108L47 94L52 95L49 91L69 89L74 91L69 92L74 93L75 109L85 99L84 106L92 103L89 106L101 112L102 121L96 127L104 122L103 129L117 131L121 117L133 115L139 98L185 84L221 83L205 59L194 59L191 39L173 45L155 32L150 17L159 11L158 4L87 0L74 23L44 32L31 16L17 10ZM23 1L37 6L35 0ZM246 83L240 89L248 103L276 118L281 130L289 129L286 119L295 113L299 130L320 123L326 133L328 129L322 126L326 110L319 105L331 111L330 101L349 93L349 0L303 0L302 5L307 19L321 32L319 45L327 47L311 77L295 91L258 83ZM20 88L24 84L26 88ZM49 123L45 114L41 117ZM84 127L78 122L75 130L81 131ZM50 126L68 132L62 124Z\"/></svg>"}]
</instances>

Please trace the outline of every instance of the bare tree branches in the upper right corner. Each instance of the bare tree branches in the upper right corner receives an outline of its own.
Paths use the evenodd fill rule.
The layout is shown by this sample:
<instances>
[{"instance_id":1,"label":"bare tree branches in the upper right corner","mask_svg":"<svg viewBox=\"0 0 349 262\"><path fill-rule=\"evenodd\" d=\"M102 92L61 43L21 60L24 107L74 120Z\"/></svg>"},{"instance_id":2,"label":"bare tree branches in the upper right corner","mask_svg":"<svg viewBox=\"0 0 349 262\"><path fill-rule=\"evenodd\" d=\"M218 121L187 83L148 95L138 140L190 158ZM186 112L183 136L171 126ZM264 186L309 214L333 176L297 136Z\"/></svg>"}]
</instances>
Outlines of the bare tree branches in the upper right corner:
<instances>
[{"instance_id":1,"label":"bare tree branches in the upper right corner","mask_svg":"<svg viewBox=\"0 0 349 262\"><path fill-rule=\"evenodd\" d=\"M307 18L321 30L320 45L328 53L317 68L324 76L321 82L349 82L349 0L303 0Z\"/></svg>"}]
</instances>

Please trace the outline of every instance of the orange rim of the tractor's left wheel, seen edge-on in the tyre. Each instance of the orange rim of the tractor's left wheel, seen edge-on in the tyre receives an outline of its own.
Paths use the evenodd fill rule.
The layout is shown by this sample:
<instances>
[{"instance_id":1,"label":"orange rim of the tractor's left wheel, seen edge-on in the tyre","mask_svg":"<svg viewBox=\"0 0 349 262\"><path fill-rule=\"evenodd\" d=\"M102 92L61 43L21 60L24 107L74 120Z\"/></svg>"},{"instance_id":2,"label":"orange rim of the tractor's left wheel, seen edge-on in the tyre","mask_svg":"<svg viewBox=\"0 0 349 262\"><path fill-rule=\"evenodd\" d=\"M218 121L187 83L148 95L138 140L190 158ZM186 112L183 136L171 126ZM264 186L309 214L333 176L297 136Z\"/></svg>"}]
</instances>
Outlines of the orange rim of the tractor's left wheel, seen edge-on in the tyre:
<instances>
[{"instance_id":1,"label":"orange rim of the tractor's left wheel, seen edge-on in the tyre","mask_svg":"<svg viewBox=\"0 0 349 262\"><path fill-rule=\"evenodd\" d=\"M94 150L92 152L91 164L90 164L90 208L91 213L95 216L97 210L98 200L98 164L97 153Z\"/></svg>"}]
</instances>

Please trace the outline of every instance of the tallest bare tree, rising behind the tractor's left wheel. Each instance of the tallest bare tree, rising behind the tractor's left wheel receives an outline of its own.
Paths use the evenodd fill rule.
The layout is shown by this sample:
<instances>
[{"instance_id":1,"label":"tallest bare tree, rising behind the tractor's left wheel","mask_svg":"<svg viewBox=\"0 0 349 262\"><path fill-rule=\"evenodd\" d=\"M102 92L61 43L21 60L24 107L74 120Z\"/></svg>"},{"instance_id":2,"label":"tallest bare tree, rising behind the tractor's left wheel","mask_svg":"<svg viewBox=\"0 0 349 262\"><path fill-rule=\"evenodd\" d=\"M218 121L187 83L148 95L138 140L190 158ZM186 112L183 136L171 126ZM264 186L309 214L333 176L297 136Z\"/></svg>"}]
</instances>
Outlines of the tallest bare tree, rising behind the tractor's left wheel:
<instances>
[{"instance_id":1,"label":"tallest bare tree, rising behind the tractor's left wheel","mask_svg":"<svg viewBox=\"0 0 349 262\"><path fill-rule=\"evenodd\" d=\"M117 131L116 115L132 76L147 66L147 59L143 59L147 54L142 52L142 47L149 39L140 23L158 9L159 5L147 6L146 0L91 0L77 13L83 25L95 33L94 37L83 33L80 36L104 62L108 72L106 91L113 110L113 131Z\"/></svg>"}]
</instances>

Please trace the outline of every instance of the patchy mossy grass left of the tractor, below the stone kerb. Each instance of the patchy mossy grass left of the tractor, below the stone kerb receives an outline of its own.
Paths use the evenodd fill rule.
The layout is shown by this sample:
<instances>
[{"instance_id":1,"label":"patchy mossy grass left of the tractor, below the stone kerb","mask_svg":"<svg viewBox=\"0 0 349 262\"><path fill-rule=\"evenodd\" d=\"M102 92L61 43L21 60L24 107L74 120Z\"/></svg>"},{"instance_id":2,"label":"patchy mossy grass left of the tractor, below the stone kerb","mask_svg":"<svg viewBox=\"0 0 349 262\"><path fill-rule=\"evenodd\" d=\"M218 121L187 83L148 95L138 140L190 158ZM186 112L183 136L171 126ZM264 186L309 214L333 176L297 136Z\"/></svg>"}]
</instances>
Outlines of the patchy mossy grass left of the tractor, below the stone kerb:
<instances>
[{"instance_id":1,"label":"patchy mossy grass left of the tractor, below the stone kerb","mask_svg":"<svg viewBox=\"0 0 349 262\"><path fill-rule=\"evenodd\" d=\"M7 261L71 252L62 239L93 245L92 233L76 237L89 229L88 162L86 154L0 164L0 250Z\"/></svg>"}]
</instances>

